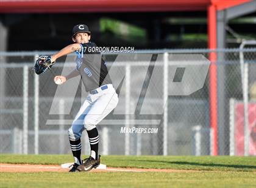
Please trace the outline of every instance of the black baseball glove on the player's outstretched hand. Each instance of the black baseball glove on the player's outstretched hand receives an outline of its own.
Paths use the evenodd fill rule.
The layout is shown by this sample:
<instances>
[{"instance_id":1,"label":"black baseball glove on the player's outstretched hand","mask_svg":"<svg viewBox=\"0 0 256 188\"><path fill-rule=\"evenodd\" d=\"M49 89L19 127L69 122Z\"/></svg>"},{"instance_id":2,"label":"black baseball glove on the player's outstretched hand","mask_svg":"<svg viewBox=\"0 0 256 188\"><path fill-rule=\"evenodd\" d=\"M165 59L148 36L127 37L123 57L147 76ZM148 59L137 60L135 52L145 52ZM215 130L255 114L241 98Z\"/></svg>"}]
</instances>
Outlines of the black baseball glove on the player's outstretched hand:
<instances>
[{"instance_id":1,"label":"black baseball glove on the player's outstretched hand","mask_svg":"<svg viewBox=\"0 0 256 188\"><path fill-rule=\"evenodd\" d=\"M40 56L37 61L35 61L35 73L41 75L46 72L46 70L51 69L52 65L55 62L52 62L51 56Z\"/></svg>"}]
</instances>

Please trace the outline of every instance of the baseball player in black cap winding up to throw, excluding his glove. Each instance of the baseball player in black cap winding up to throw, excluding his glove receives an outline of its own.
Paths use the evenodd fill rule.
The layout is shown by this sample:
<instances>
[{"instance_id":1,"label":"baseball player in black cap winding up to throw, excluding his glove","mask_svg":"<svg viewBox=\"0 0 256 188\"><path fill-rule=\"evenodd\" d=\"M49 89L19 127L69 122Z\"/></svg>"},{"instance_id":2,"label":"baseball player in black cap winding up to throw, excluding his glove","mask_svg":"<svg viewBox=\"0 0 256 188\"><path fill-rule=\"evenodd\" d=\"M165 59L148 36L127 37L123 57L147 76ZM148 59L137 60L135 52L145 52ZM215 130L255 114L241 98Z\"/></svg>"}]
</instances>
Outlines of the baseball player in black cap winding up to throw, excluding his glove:
<instances>
[{"instance_id":1,"label":"baseball player in black cap winding up to throw, excluding his glove","mask_svg":"<svg viewBox=\"0 0 256 188\"><path fill-rule=\"evenodd\" d=\"M101 159L98 154L99 134L96 125L118 104L118 95L112 86L106 64L100 52L91 50L96 44L90 42L90 38L91 32L87 25L75 25L72 36L74 44L51 56L51 61L55 62L57 58L75 52L76 68L68 75L55 76L54 81L58 80L63 84L68 79L81 76L85 90L88 92L87 99L68 130L69 143L74 156L74 164L69 172L88 171L99 166ZM85 129L88 133L91 153L89 158L82 161L80 137Z\"/></svg>"}]
</instances>

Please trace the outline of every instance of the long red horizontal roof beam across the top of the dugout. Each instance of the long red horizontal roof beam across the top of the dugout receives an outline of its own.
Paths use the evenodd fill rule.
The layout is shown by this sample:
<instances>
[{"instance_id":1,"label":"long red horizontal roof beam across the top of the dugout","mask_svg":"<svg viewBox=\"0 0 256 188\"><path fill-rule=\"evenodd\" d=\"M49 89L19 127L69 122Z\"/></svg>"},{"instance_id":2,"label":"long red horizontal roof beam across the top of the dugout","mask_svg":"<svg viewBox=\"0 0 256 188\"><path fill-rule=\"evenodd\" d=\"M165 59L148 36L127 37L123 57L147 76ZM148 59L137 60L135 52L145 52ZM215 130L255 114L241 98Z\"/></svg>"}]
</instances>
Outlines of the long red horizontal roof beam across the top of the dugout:
<instances>
[{"instance_id":1,"label":"long red horizontal roof beam across the top of the dugout","mask_svg":"<svg viewBox=\"0 0 256 188\"><path fill-rule=\"evenodd\" d=\"M250 0L1 0L0 13L163 12L217 10Z\"/></svg>"}]
</instances>

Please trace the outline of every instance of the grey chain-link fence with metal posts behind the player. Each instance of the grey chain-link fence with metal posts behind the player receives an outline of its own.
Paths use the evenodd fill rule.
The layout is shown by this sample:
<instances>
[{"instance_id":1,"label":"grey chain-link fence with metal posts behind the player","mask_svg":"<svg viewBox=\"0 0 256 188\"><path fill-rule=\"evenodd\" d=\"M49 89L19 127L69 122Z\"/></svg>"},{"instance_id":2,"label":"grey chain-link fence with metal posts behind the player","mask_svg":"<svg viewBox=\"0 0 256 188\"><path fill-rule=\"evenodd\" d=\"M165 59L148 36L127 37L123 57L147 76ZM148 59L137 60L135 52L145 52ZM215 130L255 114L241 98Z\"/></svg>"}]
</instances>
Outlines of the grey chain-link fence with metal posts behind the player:
<instances>
[{"instance_id":1,"label":"grey chain-link fence with metal posts behind the player","mask_svg":"<svg viewBox=\"0 0 256 188\"><path fill-rule=\"evenodd\" d=\"M191 55L208 58L210 50L144 50L133 55L133 62L121 61L118 54L104 54L109 69L123 72L119 83L119 104L116 110L99 124L102 155L212 155L213 130L210 122L208 73L202 88L191 95L169 95L172 82L185 79L185 65L176 67L162 64L152 56L172 61L173 55L185 58L189 65ZM239 49L214 51L218 54L218 149L219 155L233 154L230 146L230 99L243 100ZM52 52L40 52L52 54ZM147 58L140 57L146 54ZM248 64L249 100L256 98L256 49L244 49L244 62ZM63 72L63 67L74 69L73 56L61 58L54 68L37 76L34 67L37 52L1 53L0 56L0 139L1 153L70 153L66 119L73 119L85 94L81 82L74 97L54 97L58 90L53 79ZM68 62L66 59L69 59ZM197 59L198 60L198 59ZM168 61L168 62L169 62ZM64 63L65 62L65 63ZM158 67L158 68L157 68ZM176 71L173 71L175 68ZM187 69L187 67L186 67ZM204 68L192 71L193 79L185 82L191 87L197 74ZM178 71L179 70L179 71ZM221 71L219 71L221 70ZM154 74L157 71L157 74ZM220 75L221 73L221 75ZM154 78L155 75L155 78ZM154 79L153 79L154 78ZM177 79L176 81L174 81ZM151 82L151 80L154 80ZM65 85L65 84L63 84ZM161 87L162 89L160 89ZM154 90L155 96L149 88ZM65 93L65 91L63 91ZM175 89L172 90L175 93ZM169 96L168 96L169 95ZM168 98L164 106L165 98ZM55 100L55 101L54 101ZM54 105L52 105L54 103ZM72 104L68 113L64 111ZM161 107L162 106L162 107ZM57 114L51 114L54 108ZM141 113L141 109L146 112ZM255 118L256 119L256 118ZM69 122L69 121L65 121ZM126 130L138 130L125 133ZM139 129L142 128L142 129ZM150 132L140 132L144 128ZM152 129L151 129L152 128ZM251 130L253 132L253 129ZM82 135L82 152L88 154L90 145L87 133ZM254 143L256 147L256 143Z\"/></svg>"}]
</instances>

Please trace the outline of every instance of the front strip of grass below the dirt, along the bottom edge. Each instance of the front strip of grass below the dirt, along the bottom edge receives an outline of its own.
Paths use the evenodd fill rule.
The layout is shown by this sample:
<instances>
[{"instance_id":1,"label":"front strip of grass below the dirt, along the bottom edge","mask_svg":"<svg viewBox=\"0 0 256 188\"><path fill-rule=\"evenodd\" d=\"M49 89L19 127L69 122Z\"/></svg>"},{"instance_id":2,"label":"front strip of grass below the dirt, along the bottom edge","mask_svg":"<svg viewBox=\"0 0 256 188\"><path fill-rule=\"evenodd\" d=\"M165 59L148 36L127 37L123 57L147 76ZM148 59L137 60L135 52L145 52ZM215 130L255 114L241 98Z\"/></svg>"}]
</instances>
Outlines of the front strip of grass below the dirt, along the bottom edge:
<instances>
[{"instance_id":1,"label":"front strip of grass below the dirt, along the bottom edge","mask_svg":"<svg viewBox=\"0 0 256 188\"><path fill-rule=\"evenodd\" d=\"M250 172L1 173L1 187L254 187Z\"/></svg>"}]
</instances>

